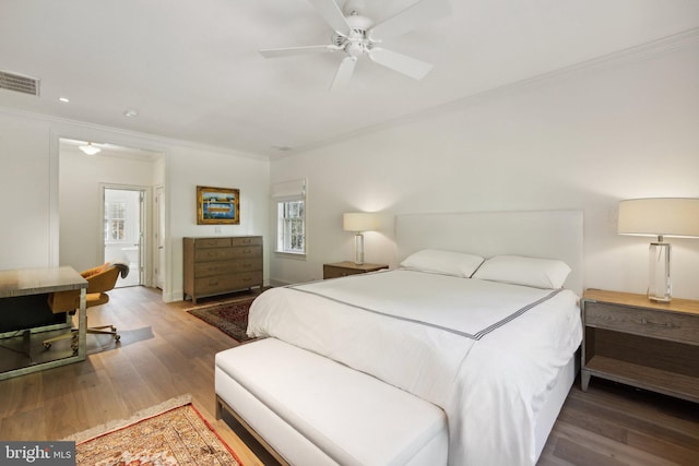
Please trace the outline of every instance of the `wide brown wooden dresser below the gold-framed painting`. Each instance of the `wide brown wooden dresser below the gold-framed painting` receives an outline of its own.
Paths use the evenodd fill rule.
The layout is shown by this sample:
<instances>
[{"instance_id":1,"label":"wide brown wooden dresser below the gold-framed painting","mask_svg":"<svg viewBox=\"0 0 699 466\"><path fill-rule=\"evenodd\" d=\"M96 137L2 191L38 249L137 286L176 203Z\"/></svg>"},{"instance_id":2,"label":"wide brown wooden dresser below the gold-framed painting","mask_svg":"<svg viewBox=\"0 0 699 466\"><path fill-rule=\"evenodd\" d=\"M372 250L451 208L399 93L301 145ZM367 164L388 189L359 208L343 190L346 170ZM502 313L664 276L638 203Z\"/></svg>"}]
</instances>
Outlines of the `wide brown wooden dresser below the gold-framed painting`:
<instances>
[{"instance_id":1,"label":"wide brown wooden dresser below the gold-framed painting","mask_svg":"<svg viewBox=\"0 0 699 466\"><path fill-rule=\"evenodd\" d=\"M183 238L185 299L262 287L262 237Z\"/></svg>"}]
</instances>

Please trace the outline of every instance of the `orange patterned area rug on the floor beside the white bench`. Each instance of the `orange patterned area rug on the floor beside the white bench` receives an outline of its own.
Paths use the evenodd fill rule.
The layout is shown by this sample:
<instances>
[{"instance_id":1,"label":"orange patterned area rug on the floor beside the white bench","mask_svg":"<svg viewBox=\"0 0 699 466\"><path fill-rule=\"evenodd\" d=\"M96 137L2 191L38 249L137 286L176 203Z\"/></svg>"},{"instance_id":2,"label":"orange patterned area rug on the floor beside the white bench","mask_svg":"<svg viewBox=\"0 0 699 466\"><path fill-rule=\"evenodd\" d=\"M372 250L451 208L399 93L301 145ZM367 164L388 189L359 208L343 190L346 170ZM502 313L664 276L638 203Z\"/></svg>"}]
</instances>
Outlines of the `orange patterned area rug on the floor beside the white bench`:
<instances>
[{"instance_id":1,"label":"orange patterned area rug on the floor beside the white bench","mask_svg":"<svg viewBox=\"0 0 699 466\"><path fill-rule=\"evenodd\" d=\"M241 466L197 408L181 404L187 398L142 411L135 420L112 422L64 440L76 442L78 465ZM95 433L98 431L102 433Z\"/></svg>"}]
</instances>

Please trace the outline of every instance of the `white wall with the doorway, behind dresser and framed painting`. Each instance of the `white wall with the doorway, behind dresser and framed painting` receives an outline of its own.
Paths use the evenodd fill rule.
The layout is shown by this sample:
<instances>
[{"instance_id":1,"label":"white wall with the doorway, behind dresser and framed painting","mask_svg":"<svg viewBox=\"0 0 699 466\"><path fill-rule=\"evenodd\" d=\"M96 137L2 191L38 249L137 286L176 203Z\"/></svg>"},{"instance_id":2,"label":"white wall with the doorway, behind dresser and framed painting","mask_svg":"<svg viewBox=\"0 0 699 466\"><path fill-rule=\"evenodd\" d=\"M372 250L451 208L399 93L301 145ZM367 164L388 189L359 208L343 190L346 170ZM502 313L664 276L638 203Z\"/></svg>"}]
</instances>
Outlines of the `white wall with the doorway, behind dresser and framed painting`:
<instances>
[{"instance_id":1,"label":"white wall with the doorway, behind dresser and framed painting","mask_svg":"<svg viewBox=\"0 0 699 466\"><path fill-rule=\"evenodd\" d=\"M151 181L163 180L166 194L165 300L182 298L181 238L215 234L212 226L197 225L197 184L239 188L241 224L222 228L221 235L263 235L268 242L270 168L264 157L0 108L0 270L63 265L59 263L60 138L165 154ZM85 219L84 225L95 225L88 236L97 241L99 219ZM264 261L269 280L266 249Z\"/></svg>"}]
</instances>

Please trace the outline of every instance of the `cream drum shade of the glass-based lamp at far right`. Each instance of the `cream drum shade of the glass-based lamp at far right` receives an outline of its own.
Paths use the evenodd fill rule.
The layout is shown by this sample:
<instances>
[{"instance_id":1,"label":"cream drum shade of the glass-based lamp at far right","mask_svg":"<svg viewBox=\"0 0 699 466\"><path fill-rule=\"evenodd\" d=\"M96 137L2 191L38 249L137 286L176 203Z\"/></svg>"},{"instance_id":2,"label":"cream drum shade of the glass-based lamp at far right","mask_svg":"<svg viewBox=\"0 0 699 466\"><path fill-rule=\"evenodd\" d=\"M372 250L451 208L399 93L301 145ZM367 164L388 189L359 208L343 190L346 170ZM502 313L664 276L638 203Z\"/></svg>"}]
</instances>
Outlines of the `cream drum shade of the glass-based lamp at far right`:
<instances>
[{"instance_id":1,"label":"cream drum shade of the glass-based lamp at far right","mask_svg":"<svg viewBox=\"0 0 699 466\"><path fill-rule=\"evenodd\" d=\"M619 235L699 237L699 199L621 201L617 227Z\"/></svg>"}]
</instances>

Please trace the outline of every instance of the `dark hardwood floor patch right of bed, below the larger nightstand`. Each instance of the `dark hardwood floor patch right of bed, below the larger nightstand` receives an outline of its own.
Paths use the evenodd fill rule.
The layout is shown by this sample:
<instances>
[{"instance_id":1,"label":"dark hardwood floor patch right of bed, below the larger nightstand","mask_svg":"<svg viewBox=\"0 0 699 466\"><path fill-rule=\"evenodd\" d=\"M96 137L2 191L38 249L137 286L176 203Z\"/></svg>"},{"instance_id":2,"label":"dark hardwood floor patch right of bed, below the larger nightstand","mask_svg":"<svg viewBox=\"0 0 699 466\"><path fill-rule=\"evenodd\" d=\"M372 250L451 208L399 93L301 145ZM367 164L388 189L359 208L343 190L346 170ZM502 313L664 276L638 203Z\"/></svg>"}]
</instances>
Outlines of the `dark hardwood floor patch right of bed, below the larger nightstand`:
<instances>
[{"instance_id":1,"label":"dark hardwood floor patch right of bed, below the larger nightstand","mask_svg":"<svg viewBox=\"0 0 699 466\"><path fill-rule=\"evenodd\" d=\"M699 405L593 378L578 380L540 466L699 465Z\"/></svg>"}]
</instances>

